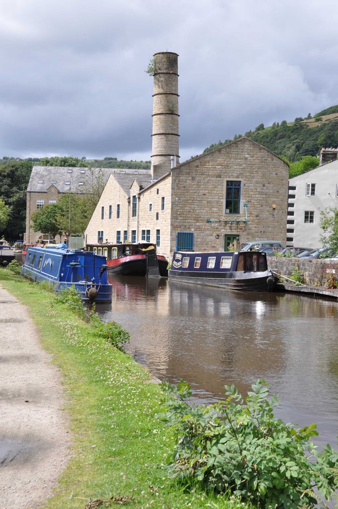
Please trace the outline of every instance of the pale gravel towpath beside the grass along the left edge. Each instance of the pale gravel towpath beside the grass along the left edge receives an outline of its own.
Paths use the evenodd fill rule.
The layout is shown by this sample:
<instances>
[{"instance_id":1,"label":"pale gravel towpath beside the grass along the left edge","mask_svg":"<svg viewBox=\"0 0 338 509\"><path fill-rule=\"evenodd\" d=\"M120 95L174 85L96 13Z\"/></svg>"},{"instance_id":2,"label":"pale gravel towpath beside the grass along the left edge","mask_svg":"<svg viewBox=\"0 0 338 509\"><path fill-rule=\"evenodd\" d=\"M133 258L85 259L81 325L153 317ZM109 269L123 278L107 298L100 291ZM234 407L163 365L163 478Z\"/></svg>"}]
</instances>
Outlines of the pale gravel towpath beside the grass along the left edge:
<instances>
[{"instance_id":1,"label":"pale gravel towpath beside the grass along the left edge","mask_svg":"<svg viewBox=\"0 0 338 509\"><path fill-rule=\"evenodd\" d=\"M70 456L61 376L27 308L0 287L0 508L38 507Z\"/></svg>"}]
</instances>

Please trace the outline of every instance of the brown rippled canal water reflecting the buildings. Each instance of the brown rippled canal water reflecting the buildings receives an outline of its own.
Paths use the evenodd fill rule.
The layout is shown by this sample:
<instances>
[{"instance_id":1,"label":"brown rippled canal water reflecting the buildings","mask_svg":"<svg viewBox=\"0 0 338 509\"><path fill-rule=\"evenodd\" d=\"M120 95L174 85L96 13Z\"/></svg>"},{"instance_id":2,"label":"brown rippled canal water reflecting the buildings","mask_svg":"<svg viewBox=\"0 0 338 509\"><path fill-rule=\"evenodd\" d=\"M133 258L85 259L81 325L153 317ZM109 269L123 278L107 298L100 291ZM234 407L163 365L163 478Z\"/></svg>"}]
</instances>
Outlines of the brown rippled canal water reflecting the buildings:
<instances>
[{"instance_id":1,"label":"brown rippled canal water reflecting the buildings","mask_svg":"<svg viewBox=\"0 0 338 509\"><path fill-rule=\"evenodd\" d=\"M295 294L233 292L166 279L116 277L106 321L130 333L125 350L160 380L188 381L198 402L244 395L264 378L287 422L338 435L338 303Z\"/></svg>"}]
</instances>

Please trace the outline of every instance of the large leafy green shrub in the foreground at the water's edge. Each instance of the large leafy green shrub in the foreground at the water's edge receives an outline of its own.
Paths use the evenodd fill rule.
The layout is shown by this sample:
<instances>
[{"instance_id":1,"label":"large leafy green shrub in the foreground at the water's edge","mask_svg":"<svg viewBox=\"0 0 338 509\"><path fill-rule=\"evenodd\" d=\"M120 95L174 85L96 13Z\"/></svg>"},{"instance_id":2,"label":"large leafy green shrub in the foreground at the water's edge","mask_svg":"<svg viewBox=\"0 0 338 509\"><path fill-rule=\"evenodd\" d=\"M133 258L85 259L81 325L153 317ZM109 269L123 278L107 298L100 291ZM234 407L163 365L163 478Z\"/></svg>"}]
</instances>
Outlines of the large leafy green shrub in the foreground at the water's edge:
<instances>
[{"instance_id":1,"label":"large leafy green shrub in the foreground at the water's edge","mask_svg":"<svg viewBox=\"0 0 338 509\"><path fill-rule=\"evenodd\" d=\"M335 490L338 453L319 452L311 442L316 425L295 429L276 419L278 398L268 401L264 380L252 385L244 402L234 385L227 400L192 406L190 386L163 384L167 423L175 425L177 445L169 457L170 477L209 490L232 492L258 507L313 507ZM318 490L318 493L315 491ZM320 495L319 495L320 494Z\"/></svg>"}]
</instances>

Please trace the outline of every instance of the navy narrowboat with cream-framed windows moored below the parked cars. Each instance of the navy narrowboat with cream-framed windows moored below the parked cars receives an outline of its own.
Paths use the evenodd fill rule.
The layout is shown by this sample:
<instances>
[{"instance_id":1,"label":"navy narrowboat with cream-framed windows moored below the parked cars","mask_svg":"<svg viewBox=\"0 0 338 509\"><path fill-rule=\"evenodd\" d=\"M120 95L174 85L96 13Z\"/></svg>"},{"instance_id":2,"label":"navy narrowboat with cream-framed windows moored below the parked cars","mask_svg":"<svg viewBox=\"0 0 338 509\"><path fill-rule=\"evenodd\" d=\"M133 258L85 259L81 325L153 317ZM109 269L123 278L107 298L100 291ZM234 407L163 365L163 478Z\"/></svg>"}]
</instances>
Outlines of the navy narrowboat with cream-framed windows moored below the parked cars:
<instances>
[{"instance_id":1,"label":"navy narrowboat with cream-framed windows moored below the parked cars","mask_svg":"<svg viewBox=\"0 0 338 509\"><path fill-rule=\"evenodd\" d=\"M258 251L176 251L168 279L230 290L272 290L278 278Z\"/></svg>"}]
</instances>

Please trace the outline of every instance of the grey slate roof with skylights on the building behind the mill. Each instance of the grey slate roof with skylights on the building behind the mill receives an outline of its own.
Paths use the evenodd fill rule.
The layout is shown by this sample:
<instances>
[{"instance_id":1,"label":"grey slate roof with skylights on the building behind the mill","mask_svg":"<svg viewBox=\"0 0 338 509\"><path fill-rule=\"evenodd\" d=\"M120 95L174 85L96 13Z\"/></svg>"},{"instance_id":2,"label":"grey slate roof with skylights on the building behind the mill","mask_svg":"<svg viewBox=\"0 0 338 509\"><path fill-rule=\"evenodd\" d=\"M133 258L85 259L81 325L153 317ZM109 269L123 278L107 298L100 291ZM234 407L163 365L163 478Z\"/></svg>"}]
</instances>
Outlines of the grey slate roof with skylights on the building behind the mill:
<instances>
[{"instance_id":1,"label":"grey slate roof with skylights on the building behind the mill","mask_svg":"<svg viewBox=\"0 0 338 509\"><path fill-rule=\"evenodd\" d=\"M135 178L143 186L151 183L149 169L33 166L27 192L47 192L51 185L54 185L60 193L86 192L92 188L93 177L94 184L99 183L100 186L102 184L104 186L109 175L114 175L128 196L129 188Z\"/></svg>"}]
</instances>

